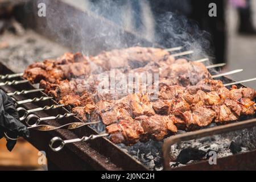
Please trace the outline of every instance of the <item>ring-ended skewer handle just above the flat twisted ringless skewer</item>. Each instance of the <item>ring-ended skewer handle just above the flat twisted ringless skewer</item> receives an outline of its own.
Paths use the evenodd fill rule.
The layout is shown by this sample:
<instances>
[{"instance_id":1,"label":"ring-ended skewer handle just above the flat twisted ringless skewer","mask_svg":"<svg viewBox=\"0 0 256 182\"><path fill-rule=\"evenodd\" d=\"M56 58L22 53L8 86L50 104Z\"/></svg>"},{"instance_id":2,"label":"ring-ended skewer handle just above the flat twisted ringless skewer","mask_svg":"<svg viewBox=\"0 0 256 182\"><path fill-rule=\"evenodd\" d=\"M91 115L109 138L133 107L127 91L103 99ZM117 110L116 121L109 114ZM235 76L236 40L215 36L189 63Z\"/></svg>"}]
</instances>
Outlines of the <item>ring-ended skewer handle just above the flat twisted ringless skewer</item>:
<instances>
[{"instance_id":1,"label":"ring-ended skewer handle just above the flat twisted ringless skewer","mask_svg":"<svg viewBox=\"0 0 256 182\"><path fill-rule=\"evenodd\" d=\"M49 116L49 117L44 117L44 118L39 118L37 115L35 114L30 114L28 115L28 117L26 118L25 122L27 126L38 126L40 122L42 121L47 121L47 120L51 120L51 119L62 119L62 118L68 118L71 117L73 115L76 115L74 113L65 113L63 115L58 114L56 116Z\"/></svg>"}]
</instances>

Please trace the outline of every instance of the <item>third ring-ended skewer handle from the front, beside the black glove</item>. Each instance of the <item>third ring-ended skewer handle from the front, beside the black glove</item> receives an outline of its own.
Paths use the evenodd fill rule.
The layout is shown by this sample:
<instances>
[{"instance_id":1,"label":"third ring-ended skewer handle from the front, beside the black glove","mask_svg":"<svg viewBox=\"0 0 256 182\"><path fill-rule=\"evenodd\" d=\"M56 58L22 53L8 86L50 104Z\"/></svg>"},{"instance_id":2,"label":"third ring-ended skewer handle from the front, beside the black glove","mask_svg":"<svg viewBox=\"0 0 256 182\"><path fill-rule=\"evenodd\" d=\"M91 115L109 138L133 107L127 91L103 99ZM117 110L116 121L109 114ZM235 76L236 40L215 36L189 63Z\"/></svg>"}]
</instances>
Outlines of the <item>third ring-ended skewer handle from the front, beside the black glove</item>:
<instances>
[{"instance_id":1,"label":"third ring-ended skewer handle from the front, beside the black glove","mask_svg":"<svg viewBox=\"0 0 256 182\"><path fill-rule=\"evenodd\" d=\"M35 109L30 109L30 110L26 110L24 107L18 107L17 111L18 111L19 116L20 116L19 120L24 121L27 118L28 114L35 113L37 111L42 111L42 110L56 109L56 108L63 107L63 106L64 106L64 104L51 105L51 106L38 107L38 108L35 108Z\"/></svg>"}]
</instances>

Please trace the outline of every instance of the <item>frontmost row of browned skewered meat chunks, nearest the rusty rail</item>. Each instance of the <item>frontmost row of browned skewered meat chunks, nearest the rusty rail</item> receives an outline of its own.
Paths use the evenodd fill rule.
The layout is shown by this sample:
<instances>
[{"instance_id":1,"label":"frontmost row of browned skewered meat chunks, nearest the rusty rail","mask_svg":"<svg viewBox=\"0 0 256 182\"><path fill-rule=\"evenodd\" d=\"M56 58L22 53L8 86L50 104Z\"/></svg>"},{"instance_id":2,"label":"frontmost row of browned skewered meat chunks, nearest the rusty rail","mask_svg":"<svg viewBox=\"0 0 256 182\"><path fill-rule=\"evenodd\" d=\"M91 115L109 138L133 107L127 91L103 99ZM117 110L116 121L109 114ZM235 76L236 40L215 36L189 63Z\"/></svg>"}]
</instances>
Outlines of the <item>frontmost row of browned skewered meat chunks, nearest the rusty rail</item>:
<instances>
[{"instance_id":1,"label":"frontmost row of browned skewered meat chunks, nearest the rusty rail","mask_svg":"<svg viewBox=\"0 0 256 182\"><path fill-rule=\"evenodd\" d=\"M228 90L226 90L226 92L227 91ZM230 93L251 93L252 91L253 89L233 88L230 90ZM218 90L218 93L220 92L221 90ZM213 92L209 94L214 95ZM251 101L250 98L245 98L246 96L251 97L252 94L242 94L242 98L237 101L232 100L232 97L226 98L226 100L218 105L192 104L191 106L188 105L188 108L186 108L184 107L186 104L183 103L180 104L182 107L180 107L179 110L174 110L175 112L171 112L171 114L165 115L167 113L166 111L163 111L162 113L158 114L164 115L141 115L134 118L134 122L131 122L131 119L120 117L121 119L119 122L107 126L106 131L110 134L110 139L114 143L133 144L134 140L135 142L138 142L138 140L144 141L148 139L148 137L162 140L164 137L166 137L166 135L175 133L177 129L195 130L203 126L208 126L213 121L217 123L224 123L228 121L235 121L241 115L254 114L256 110L254 106L255 102ZM255 92L253 97L255 97ZM209 98L206 97L206 99ZM158 107L158 109L169 110L171 108L168 100L166 102L160 102L163 102L163 107ZM186 111L181 111L182 109L185 109ZM106 111L106 113L108 112L109 111ZM128 122L126 123L125 121Z\"/></svg>"}]
</instances>

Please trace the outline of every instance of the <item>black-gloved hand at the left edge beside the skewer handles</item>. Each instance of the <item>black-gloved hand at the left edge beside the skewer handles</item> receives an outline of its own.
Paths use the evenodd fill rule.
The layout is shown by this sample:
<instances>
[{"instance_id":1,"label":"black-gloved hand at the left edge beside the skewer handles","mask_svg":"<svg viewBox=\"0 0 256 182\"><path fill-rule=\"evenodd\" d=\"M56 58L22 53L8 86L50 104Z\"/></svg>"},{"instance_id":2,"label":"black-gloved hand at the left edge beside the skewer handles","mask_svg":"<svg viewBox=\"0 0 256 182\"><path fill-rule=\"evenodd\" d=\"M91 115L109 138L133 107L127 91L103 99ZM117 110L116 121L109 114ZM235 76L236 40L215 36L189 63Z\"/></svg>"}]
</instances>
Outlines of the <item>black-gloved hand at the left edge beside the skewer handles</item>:
<instances>
[{"instance_id":1,"label":"black-gloved hand at the left edge beside the skewer handles","mask_svg":"<svg viewBox=\"0 0 256 182\"><path fill-rule=\"evenodd\" d=\"M3 90L0 90L0 139L5 133L11 138L29 137L30 133L25 125L19 121L19 114L14 101ZM7 139L6 147L13 150L16 140Z\"/></svg>"}]
</instances>

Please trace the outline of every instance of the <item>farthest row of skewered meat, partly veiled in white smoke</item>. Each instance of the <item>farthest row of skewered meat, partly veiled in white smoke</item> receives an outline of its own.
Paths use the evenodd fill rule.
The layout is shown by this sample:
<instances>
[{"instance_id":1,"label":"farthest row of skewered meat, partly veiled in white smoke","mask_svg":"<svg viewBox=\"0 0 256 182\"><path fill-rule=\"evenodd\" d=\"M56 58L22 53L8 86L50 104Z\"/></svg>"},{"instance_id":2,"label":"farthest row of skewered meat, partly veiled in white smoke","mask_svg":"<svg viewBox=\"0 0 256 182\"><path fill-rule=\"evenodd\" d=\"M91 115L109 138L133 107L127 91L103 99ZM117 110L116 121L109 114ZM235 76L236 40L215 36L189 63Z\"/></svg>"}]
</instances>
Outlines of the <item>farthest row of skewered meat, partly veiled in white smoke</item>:
<instances>
[{"instance_id":1,"label":"farthest row of skewered meat, partly veiled in white smoke","mask_svg":"<svg viewBox=\"0 0 256 182\"><path fill-rule=\"evenodd\" d=\"M131 47L102 52L97 56L85 57L81 53L65 53L56 60L34 63L24 72L24 78L37 83L40 80L56 82L72 77L89 76L91 73L109 71L110 68L135 69L152 61L174 61L170 53L159 48Z\"/></svg>"}]
</instances>

